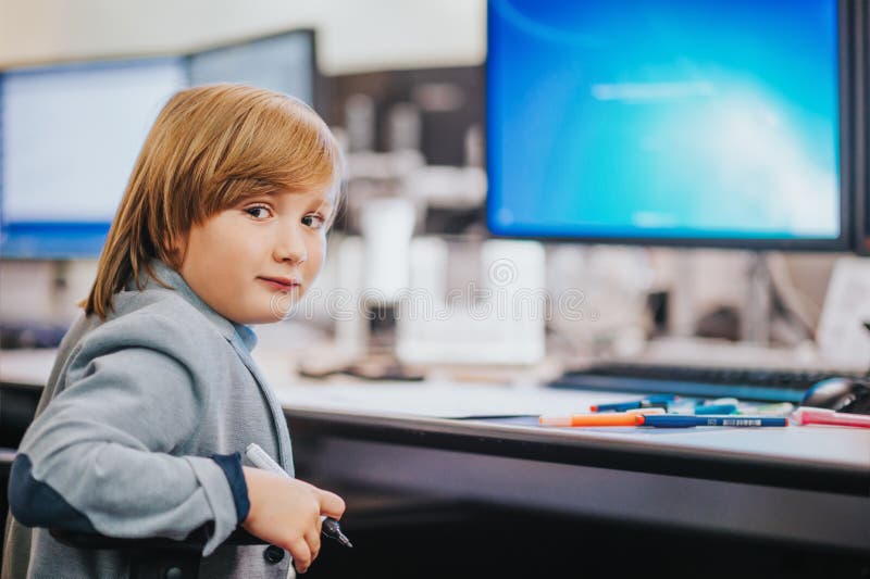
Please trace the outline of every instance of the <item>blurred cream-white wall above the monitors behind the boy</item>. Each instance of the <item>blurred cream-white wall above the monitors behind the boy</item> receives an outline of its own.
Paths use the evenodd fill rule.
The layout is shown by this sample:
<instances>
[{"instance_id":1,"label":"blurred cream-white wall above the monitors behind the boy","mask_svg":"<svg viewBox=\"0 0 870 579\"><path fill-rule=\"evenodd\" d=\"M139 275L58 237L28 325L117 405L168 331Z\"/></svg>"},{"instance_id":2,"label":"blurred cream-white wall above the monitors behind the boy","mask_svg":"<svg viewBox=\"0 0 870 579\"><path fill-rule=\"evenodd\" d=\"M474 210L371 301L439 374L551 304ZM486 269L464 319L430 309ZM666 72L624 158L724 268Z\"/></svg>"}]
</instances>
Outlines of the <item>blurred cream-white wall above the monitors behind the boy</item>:
<instances>
[{"instance_id":1,"label":"blurred cream-white wall above the monitors behind the boy","mask_svg":"<svg viewBox=\"0 0 870 579\"><path fill-rule=\"evenodd\" d=\"M197 50L318 30L326 75L481 64L482 0L0 1L0 66Z\"/></svg>"}]
</instances>

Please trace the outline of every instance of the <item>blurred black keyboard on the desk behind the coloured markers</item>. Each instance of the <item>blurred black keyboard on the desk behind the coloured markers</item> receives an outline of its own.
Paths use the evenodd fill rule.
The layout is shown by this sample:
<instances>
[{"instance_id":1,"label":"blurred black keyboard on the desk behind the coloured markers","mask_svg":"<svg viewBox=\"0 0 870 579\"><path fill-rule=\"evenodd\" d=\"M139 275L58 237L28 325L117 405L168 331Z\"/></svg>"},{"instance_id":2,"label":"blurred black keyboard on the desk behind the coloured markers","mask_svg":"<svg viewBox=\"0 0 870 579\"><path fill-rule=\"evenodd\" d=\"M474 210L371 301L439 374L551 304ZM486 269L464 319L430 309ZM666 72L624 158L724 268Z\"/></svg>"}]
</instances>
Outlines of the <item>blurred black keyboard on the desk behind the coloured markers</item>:
<instances>
[{"instance_id":1,"label":"blurred black keyboard on the desk behind the coloured markers","mask_svg":"<svg viewBox=\"0 0 870 579\"><path fill-rule=\"evenodd\" d=\"M820 380L856 377L836 370L787 370L658 364L601 363L566 372L550 388L671 393L687 397L734 397L759 402L799 403Z\"/></svg>"}]
</instances>

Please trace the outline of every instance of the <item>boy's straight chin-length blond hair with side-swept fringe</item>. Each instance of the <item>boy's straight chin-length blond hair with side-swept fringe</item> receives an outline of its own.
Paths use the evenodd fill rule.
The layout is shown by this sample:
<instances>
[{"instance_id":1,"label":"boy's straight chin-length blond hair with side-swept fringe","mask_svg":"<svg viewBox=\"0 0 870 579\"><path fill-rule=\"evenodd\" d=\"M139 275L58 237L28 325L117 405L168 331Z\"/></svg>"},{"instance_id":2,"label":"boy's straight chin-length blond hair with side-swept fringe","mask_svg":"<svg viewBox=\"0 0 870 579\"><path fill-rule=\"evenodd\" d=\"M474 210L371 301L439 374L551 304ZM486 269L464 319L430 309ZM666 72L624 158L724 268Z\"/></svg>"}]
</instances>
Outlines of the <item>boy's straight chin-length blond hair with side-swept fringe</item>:
<instances>
[{"instance_id":1,"label":"boy's straight chin-length blond hair with side-swept fringe","mask_svg":"<svg viewBox=\"0 0 870 579\"><path fill-rule=\"evenodd\" d=\"M133 167L82 303L85 313L104 319L130 277L141 289L141 268L154 275L154 257L178 268L175 248L190 227L244 197L337 191L341 163L326 124L299 100L244 85L179 91L158 115Z\"/></svg>"}]
</instances>

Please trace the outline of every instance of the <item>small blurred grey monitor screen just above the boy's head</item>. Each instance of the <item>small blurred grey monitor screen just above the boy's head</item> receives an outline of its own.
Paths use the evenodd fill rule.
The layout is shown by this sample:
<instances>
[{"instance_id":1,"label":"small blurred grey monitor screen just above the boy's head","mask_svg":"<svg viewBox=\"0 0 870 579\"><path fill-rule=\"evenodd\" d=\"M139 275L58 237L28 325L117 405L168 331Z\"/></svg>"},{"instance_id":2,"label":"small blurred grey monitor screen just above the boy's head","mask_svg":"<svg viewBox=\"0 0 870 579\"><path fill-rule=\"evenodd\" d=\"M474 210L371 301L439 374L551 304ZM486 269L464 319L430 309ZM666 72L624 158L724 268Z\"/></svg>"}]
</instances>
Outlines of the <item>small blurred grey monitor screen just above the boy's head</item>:
<instances>
[{"instance_id":1,"label":"small blurred grey monitor screen just above the boy's head","mask_svg":"<svg viewBox=\"0 0 870 579\"><path fill-rule=\"evenodd\" d=\"M295 30L190 55L194 85L240 83L314 105L314 38Z\"/></svg>"}]
</instances>

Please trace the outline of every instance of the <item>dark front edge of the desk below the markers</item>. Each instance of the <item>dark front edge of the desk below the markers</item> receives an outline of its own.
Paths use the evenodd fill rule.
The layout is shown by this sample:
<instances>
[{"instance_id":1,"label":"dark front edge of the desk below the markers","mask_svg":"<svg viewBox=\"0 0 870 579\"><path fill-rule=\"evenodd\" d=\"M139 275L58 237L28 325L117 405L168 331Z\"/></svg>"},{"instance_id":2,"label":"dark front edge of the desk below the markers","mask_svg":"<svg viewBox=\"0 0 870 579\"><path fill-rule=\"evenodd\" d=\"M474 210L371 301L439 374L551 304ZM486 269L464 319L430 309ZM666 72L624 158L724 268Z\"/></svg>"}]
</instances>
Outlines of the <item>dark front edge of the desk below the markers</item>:
<instances>
[{"instance_id":1,"label":"dark front edge of the desk below the markers","mask_svg":"<svg viewBox=\"0 0 870 579\"><path fill-rule=\"evenodd\" d=\"M555 436L542 430L427 417L366 416L285 408L293 437L333 437L473 454L741 482L870 498L870 469L798 464L691 448L638 446L636 440Z\"/></svg>"}]
</instances>

